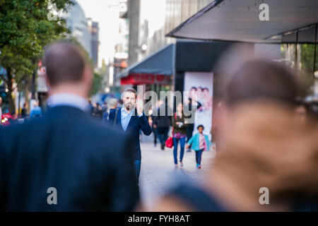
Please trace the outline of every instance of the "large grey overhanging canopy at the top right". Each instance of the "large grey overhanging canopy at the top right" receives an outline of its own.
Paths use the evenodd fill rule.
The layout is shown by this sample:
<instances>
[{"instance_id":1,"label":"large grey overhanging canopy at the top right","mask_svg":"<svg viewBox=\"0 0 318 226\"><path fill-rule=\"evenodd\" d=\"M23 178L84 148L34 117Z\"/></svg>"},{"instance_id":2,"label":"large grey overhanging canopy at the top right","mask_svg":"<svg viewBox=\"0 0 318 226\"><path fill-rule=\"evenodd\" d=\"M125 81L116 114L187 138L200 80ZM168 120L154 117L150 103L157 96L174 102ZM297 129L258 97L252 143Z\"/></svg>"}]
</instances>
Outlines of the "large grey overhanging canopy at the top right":
<instances>
[{"instance_id":1,"label":"large grey overhanging canopy at the top right","mask_svg":"<svg viewBox=\"0 0 318 226\"><path fill-rule=\"evenodd\" d=\"M259 5L269 5L269 20ZM317 0L215 0L167 34L169 37L239 42L281 42L285 32L318 23Z\"/></svg>"}]
</instances>

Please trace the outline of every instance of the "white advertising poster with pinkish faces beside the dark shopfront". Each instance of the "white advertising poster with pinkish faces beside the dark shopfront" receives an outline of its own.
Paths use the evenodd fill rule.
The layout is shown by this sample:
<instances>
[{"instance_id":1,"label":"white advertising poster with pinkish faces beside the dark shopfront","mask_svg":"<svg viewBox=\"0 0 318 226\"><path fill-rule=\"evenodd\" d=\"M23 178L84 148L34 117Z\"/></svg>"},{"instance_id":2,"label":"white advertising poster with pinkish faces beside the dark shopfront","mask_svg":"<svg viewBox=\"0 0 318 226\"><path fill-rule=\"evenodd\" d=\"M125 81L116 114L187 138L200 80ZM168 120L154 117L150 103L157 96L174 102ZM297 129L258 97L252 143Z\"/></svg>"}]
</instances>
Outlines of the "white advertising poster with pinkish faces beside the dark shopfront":
<instances>
[{"instance_id":1,"label":"white advertising poster with pinkish faces beside the dark shopfront","mask_svg":"<svg viewBox=\"0 0 318 226\"><path fill-rule=\"evenodd\" d=\"M213 73L186 72L184 74L185 104L192 98L192 105L199 105L196 109L194 133L196 126L204 125L204 133L211 139L212 108L213 108Z\"/></svg>"}]
</instances>

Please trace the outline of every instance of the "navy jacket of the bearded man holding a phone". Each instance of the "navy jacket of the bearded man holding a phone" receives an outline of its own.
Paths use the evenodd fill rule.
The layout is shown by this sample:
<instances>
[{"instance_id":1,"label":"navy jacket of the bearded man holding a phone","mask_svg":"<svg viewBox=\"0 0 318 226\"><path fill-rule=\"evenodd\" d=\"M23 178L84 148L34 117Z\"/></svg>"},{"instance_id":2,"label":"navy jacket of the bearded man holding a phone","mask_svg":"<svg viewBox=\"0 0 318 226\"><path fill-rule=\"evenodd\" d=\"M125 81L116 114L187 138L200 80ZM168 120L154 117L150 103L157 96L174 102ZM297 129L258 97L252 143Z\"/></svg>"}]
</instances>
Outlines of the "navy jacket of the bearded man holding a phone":
<instances>
[{"instance_id":1,"label":"navy jacket of the bearded man holding a phone","mask_svg":"<svg viewBox=\"0 0 318 226\"><path fill-rule=\"evenodd\" d=\"M118 109L117 121L115 127L119 131L124 131L122 129L122 109ZM114 125L114 116L116 109L110 110L110 116L108 117L108 125ZM140 141L139 141L139 131L143 131L146 136L151 135L151 126L148 123L147 117L143 114L142 117L138 117L137 110L135 109L135 114L131 116L129 124L126 129L126 133L131 137L132 153L134 155L134 160L141 160L141 150L140 150Z\"/></svg>"}]
</instances>

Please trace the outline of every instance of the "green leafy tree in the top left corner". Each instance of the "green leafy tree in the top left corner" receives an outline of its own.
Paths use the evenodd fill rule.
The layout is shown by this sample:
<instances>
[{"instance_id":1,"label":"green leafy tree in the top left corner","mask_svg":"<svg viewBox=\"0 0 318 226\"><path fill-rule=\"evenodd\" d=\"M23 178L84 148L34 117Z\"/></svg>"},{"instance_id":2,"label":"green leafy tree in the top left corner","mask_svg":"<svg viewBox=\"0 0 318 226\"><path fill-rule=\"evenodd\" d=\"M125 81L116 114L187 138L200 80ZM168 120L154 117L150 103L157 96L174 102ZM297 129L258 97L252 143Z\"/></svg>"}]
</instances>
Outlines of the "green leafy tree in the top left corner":
<instances>
[{"instance_id":1,"label":"green leafy tree in the top left corner","mask_svg":"<svg viewBox=\"0 0 318 226\"><path fill-rule=\"evenodd\" d=\"M49 4L67 11L71 0L0 0L0 65L7 71L2 76L11 97L13 81L20 83L37 67L45 45L69 32L63 18L48 20ZM11 111L13 101L9 98Z\"/></svg>"}]
</instances>

